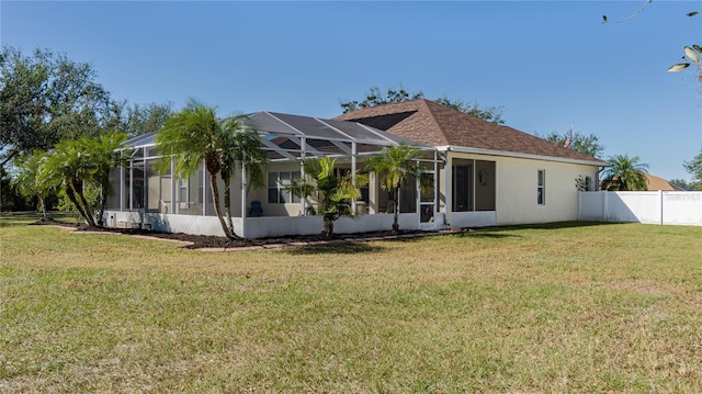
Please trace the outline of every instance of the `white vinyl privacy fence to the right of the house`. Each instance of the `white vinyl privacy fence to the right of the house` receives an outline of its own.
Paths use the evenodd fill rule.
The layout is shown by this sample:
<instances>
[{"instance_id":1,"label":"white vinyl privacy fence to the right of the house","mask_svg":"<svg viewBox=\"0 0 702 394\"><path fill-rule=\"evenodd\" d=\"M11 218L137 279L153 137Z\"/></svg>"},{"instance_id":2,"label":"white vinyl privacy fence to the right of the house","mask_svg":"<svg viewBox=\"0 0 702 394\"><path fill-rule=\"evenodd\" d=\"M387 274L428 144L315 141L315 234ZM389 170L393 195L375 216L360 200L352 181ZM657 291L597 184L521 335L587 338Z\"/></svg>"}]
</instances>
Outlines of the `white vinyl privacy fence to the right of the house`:
<instances>
[{"instance_id":1,"label":"white vinyl privacy fence to the right of the house","mask_svg":"<svg viewBox=\"0 0 702 394\"><path fill-rule=\"evenodd\" d=\"M702 192L579 192L578 219L702 226Z\"/></svg>"}]
</instances>

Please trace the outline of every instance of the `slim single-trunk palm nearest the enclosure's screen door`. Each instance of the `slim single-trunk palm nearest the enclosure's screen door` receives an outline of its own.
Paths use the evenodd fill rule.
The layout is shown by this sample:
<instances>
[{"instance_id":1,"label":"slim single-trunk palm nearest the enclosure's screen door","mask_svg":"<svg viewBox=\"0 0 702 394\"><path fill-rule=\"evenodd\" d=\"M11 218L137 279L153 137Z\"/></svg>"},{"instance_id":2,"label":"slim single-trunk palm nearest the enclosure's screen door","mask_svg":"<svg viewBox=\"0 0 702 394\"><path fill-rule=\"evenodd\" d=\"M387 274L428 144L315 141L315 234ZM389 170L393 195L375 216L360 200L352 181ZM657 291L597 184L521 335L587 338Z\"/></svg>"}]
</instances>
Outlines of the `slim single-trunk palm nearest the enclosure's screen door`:
<instances>
[{"instance_id":1,"label":"slim single-trunk palm nearest the enclosure's screen door","mask_svg":"<svg viewBox=\"0 0 702 394\"><path fill-rule=\"evenodd\" d=\"M385 147L380 155L373 156L366 162L366 169L375 171L381 178L381 188L389 190L395 198L393 232L399 230L399 190L409 178L421 178L424 168L414 159L419 147L407 144Z\"/></svg>"}]
</instances>

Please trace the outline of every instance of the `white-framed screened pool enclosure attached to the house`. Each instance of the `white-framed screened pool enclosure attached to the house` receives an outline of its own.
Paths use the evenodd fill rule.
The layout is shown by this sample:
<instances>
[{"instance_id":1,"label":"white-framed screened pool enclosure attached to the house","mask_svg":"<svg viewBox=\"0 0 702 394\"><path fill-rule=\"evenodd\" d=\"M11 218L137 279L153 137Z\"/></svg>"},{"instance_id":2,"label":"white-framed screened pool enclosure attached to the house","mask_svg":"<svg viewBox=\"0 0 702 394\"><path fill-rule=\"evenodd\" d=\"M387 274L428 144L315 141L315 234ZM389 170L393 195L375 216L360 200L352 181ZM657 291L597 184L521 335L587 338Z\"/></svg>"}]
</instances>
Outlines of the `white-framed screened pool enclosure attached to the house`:
<instances>
[{"instance_id":1,"label":"white-framed screened pool enclosure attached to the house","mask_svg":"<svg viewBox=\"0 0 702 394\"><path fill-rule=\"evenodd\" d=\"M304 161L329 156L336 158L339 175L364 171L369 157L383 147L400 143L417 145L361 123L321 120L272 112L249 115L269 158L265 185L250 184L247 171L239 166L231 182L235 233L245 238L317 234L322 227L317 201L295 196L287 185L305 177ZM154 142L155 133L124 143L124 167L111 172L113 193L107 200L104 223L113 227L141 227L161 232L218 235L224 232L215 216L212 188L204 164L182 178L171 162L158 170L163 158ZM166 158L168 160L168 158ZM443 226L440 213L439 172L443 161L433 147L420 147L417 162L426 169L427 180L406 182L399 196L399 225L404 229L438 229ZM168 167L168 166L167 166ZM381 180L369 173L370 182L361 188L362 196L352 201L354 217L335 224L335 233L360 233L390 229L395 200L381 188ZM224 182L219 180L220 196Z\"/></svg>"}]
</instances>

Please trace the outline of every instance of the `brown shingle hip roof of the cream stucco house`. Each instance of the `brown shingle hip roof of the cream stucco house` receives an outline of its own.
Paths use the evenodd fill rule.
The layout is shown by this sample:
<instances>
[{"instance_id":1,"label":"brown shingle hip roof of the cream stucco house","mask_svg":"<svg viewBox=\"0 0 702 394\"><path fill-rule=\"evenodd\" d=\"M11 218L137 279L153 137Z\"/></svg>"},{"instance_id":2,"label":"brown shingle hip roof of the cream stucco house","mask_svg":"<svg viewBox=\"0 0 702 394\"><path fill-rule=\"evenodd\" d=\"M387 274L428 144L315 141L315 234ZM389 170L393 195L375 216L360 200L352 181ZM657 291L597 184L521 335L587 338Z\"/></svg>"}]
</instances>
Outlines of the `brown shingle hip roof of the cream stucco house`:
<instances>
[{"instance_id":1,"label":"brown shingle hip roof of the cream stucco house","mask_svg":"<svg viewBox=\"0 0 702 394\"><path fill-rule=\"evenodd\" d=\"M608 166L603 160L424 99L364 108L335 120L363 123L435 147L465 147L488 154L510 153Z\"/></svg>"}]
</instances>

